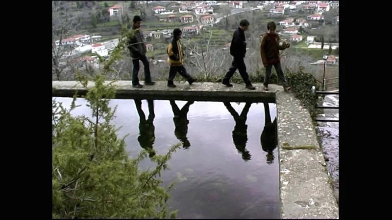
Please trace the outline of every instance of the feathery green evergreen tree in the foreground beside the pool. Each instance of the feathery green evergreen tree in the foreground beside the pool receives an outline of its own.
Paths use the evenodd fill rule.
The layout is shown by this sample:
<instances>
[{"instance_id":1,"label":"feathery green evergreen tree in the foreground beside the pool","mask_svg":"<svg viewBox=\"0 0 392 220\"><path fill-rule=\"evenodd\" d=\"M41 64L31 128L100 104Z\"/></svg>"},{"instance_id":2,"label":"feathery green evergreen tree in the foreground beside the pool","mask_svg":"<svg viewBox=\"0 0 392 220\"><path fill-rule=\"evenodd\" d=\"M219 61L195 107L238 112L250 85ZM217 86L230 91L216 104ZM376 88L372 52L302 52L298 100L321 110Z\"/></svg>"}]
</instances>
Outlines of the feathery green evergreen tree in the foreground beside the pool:
<instances>
[{"instance_id":1,"label":"feathery green evergreen tree in the foreground beside the pool","mask_svg":"<svg viewBox=\"0 0 392 220\"><path fill-rule=\"evenodd\" d=\"M123 26L119 44L103 71L94 74L93 87L88 87L87 76L79 74L79 81L88 90L83 96L91 117L73 116L77 108L76 94L70 110L52 102L52 218L168 218L166 203L169 188L161 187L158 179L167 169L167 162L179 145L165 155L151 158L153 170L139 170L139 163L147 156L142 151L129 158L125 151L125 137L117 136L111 124L116 107L109 106L115 97L113 82L105 84L105 76L121 56L125 47L126 27ZM175 212L170 214L175 217Z\"/></svg>"}]
</instances>

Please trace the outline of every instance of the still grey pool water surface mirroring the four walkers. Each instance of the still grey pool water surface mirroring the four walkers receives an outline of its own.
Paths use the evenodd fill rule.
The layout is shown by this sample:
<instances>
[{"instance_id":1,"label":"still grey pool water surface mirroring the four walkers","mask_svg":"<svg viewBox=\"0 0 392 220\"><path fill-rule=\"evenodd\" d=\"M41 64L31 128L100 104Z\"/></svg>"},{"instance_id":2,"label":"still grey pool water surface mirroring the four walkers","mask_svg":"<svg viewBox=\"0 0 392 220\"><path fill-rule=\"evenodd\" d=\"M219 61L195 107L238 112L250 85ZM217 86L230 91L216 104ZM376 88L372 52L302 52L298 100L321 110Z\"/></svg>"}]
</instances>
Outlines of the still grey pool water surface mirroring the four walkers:
<instances>
[{"instance_id":1,"label":"still grey pool water surface mirroring the four walkers","mask_svg":"<svg viewBox=\"0 0 392 220\"><path fill-rule=\"evenodd\" d=\"M67 108L72 101L55 99ZM73 114L90 115L85 103L77 99L82 106ZM184 143L161 176L165 185L178 181L169 201L178 218L280 217L275 104L113 99L110 105L118 105L113 123L123 126L119 135L129 133L130 156L142 148L165 154ZM140 165L154 167L148 157Z\"/></svg>"}]
</instances>

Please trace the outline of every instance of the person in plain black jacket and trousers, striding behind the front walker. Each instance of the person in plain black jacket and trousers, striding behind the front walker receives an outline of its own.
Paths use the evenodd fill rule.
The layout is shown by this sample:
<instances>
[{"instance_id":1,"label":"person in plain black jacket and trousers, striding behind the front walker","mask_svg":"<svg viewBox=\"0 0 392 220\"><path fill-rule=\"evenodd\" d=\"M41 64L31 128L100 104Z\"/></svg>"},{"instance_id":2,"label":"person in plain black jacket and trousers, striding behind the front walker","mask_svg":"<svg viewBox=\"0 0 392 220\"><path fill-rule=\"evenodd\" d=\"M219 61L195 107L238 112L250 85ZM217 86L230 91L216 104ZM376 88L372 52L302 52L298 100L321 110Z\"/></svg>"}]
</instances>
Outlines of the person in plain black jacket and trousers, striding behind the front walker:
<instances>
[{"instance_id":1,"label":"person in plain black jacket and trousers, striding behind the front walker","mask_svg":"<svg viewBox=\"0 0 392 220\"><path fill-rule=\"evenodd\" d=\"M242 79L245 82L246 88L256 89L252 86L249 80L249 75L246 72L246 66L244 63L244 57L246 54L246 42L245 42L245 30L248 29L249 22L246 19L241 20L240 26L234 31L233 39L230 44L230 54L233 56L233 62L222 80L222 84L227 87L232 87L230 84L230 78L234 75L236 70L241 74Z\"/></svg>"}]
</instances>

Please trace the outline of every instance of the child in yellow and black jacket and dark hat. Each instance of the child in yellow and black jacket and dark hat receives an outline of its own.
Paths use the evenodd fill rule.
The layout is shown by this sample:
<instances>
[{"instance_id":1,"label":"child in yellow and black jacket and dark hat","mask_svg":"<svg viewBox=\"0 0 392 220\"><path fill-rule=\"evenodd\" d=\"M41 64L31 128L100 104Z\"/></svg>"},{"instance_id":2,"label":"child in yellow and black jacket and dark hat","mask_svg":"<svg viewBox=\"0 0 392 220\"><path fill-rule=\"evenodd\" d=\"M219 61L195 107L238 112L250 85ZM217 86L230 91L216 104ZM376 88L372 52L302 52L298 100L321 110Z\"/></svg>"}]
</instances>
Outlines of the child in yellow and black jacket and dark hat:
<instances>
[{"instance_id":1,"label":"child in yellow and black jacket and dark hat","mask_svg":"<svg viewBox=\"0 0 392 220\"><path fill-rule=\"evenodd\" d=\"M168 62L170 65L168 87L176 87L173 83L173 80L177 72L179 72L180 75L183 76L190 85L196 82L196 79L192 78L191 75L187 73L187 70L183 65L184 53L182 52L182 45L180 43L181 34L181 30L175 28L173 30L172 43L170 43L167 48L167 53L169 55Z\"/></svg>"}]
</instances>

